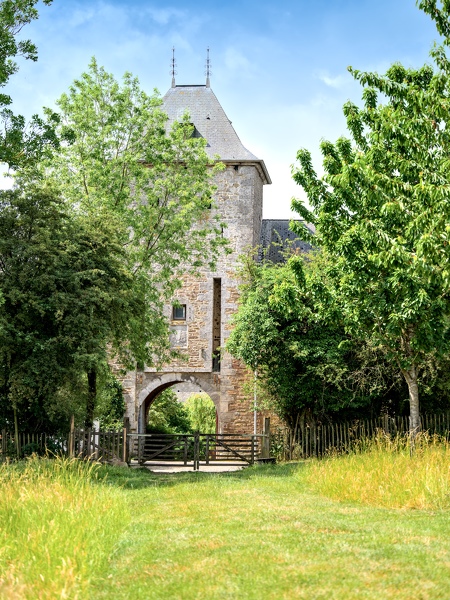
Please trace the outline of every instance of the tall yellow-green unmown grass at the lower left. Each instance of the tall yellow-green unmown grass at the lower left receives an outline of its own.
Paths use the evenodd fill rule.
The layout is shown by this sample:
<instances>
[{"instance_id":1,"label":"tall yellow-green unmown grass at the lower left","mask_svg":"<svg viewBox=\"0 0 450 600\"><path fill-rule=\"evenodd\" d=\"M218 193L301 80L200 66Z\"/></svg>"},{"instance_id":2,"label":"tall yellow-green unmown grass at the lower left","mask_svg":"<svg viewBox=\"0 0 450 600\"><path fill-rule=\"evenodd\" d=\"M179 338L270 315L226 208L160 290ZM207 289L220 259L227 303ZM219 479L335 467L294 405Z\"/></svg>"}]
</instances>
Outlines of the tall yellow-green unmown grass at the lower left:
<instances>
[{"instance_id":1,"label":"tall yellow-green unmown grass at the lower left","mask_svg":"<svg viewBox=\"0 0 450 600\"><path fill-rule=\"evenodd\" d=\"M0 598L87 597L127 513L98 482L99 466L75 459L0 465Z\"/></svg>"}]
</instances>

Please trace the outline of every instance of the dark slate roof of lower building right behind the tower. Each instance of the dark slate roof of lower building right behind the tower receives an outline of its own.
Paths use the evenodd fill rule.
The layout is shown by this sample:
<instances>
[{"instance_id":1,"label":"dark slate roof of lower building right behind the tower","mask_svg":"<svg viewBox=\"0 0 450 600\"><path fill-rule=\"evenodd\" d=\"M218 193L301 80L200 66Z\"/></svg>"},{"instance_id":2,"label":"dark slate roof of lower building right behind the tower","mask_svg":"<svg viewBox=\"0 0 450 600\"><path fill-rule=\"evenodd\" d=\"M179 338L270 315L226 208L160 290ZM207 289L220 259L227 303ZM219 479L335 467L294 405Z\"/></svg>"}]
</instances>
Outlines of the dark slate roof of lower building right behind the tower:
<instances>
[{"instance_id":1,"label":"dark slate roof of lower building right behind the tower","mask_svg":"<svg viewBox=\"0 0 450 600\"><path fill-rule=\"evenodd\" d=\"M312 226L305 221L298 221L310 233L314 233ZM266 260L274 263L282 263L285 258L283 250L288 248L299 252L309 252L311 244L301 240L296 233L289 229L290 219L263 219L261 222L261 250L259 260L265 256Z\"/></svg>"}]
</instances>

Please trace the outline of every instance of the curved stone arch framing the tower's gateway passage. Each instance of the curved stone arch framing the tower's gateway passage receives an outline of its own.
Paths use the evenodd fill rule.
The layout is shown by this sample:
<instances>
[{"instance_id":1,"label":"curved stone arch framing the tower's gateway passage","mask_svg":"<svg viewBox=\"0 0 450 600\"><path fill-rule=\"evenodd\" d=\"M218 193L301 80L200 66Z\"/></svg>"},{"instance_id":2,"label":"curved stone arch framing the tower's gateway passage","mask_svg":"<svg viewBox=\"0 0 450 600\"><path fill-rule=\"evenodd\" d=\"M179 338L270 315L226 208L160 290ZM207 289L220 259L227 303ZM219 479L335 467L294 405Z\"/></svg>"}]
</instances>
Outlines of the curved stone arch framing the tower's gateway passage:
<instances>
[{"instance_id":1,"label":"curved stone arch framing the tower's gateway passage","mask_svg":"<svg viewBox=\"0 0 450 600\"><path fill-rule=\"evenodd\" d=\"M209 373L149 373L148 381L139 393L139 433L145 431L148 410L153 400L169 387L177 383L193 383L202 388L208 394L216 407L216 413L220 412L220 391L214 385Z\"/></svg>"}]
</instances>

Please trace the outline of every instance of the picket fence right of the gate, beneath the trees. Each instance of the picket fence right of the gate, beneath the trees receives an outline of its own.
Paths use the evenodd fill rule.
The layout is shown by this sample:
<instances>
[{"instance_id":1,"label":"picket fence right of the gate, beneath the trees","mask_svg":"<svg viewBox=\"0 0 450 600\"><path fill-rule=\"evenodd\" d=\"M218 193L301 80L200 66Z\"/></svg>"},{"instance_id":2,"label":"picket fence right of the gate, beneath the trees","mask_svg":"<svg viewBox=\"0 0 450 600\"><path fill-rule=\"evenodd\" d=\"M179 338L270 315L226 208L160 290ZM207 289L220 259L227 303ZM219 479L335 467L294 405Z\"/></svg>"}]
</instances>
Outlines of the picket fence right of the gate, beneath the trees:
<instances>
[{"instance_id":1,"label":"picket fence right of the gate, beneath the trees","mask_svg":"<svg viewBox=\"0 0 450 600\"><path fill-rule=\"evenodd\" d=\"M450 440L450 412L421 415L421 429L430 435ZM270 455L279 460L321 457L335 452L349 452L375 435L404 435L409 431L409 417L383 416L347 423L298 425L294 431L278 430L271 435Z\"/></svg>"}]
</instances>

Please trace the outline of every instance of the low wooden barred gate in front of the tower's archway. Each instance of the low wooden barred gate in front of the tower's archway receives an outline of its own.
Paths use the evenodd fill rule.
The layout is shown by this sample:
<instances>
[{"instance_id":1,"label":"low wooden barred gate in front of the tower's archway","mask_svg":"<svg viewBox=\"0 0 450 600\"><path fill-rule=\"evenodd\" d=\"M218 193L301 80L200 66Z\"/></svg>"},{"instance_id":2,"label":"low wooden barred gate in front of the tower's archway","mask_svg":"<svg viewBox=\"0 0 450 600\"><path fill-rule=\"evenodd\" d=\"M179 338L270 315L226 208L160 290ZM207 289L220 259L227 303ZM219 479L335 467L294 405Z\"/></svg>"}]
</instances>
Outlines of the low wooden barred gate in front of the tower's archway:
<instances>
[{"instance_id":1,"label":"low wooden barred gate in front of the tower's archway","mask_svg":"<svg viewBox=\"0 0 450 600\"><path fill-rule=\"evenodd\" d=\"M129 460L140 465L191 467L221 463L252 465L265 447L262 435L244 434L128 434Z\"/></svg>"}]
</instances>

